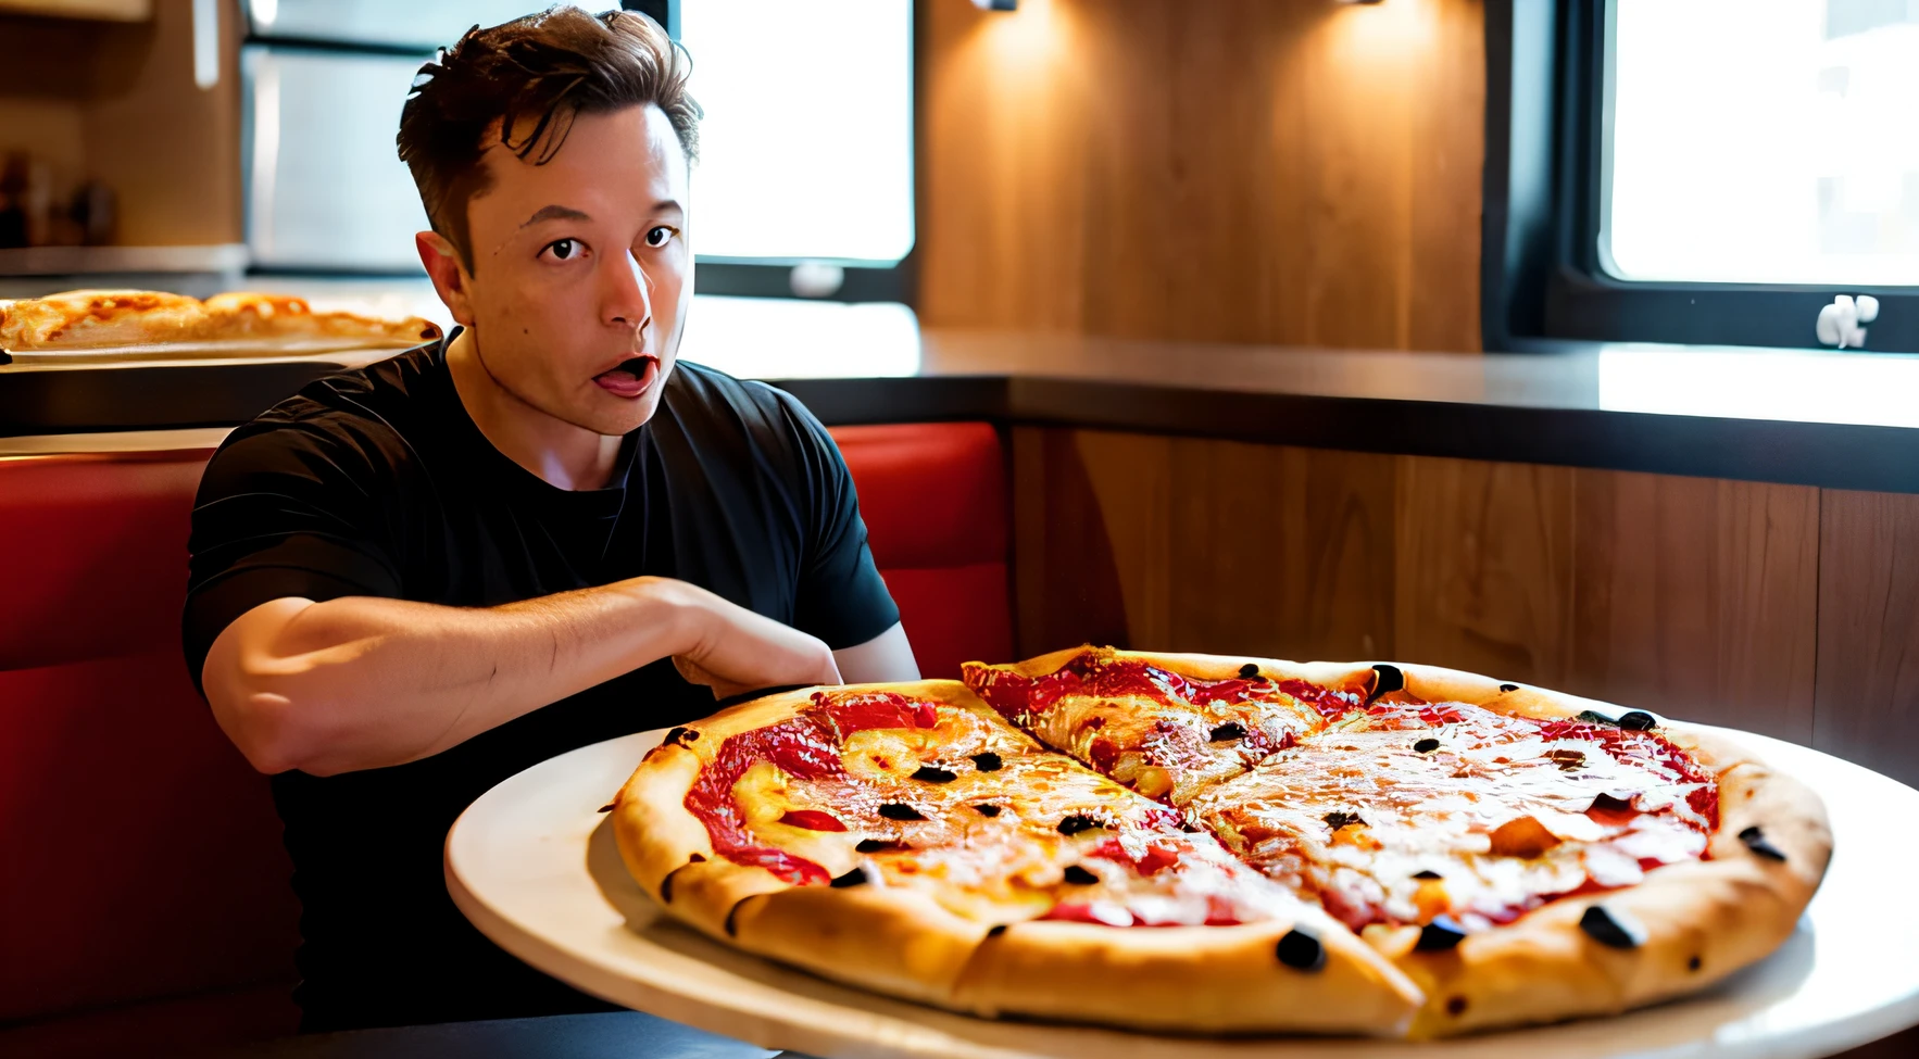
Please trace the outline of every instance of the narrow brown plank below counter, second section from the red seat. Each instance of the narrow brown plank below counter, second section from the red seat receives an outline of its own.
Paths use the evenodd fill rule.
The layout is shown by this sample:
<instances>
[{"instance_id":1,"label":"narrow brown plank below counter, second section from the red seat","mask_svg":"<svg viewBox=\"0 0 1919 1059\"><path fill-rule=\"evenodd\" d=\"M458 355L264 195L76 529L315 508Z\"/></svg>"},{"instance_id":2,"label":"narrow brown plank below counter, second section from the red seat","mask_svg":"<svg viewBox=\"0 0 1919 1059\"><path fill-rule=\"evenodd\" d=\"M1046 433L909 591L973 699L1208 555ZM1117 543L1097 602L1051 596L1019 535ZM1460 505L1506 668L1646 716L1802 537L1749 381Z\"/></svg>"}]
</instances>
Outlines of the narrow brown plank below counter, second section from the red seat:
<instances>
[{"instance_id":1,"label":"narrow brown plank below counter, second section from the red seat","mask_svg":"<svg viewBox=\"0 0 1919 1059\"><path fill-rule=\"evenodd\" d=\"M1574 470L1401 457L1397 656L1562 687Z\"/></svg>"}]
</instances>

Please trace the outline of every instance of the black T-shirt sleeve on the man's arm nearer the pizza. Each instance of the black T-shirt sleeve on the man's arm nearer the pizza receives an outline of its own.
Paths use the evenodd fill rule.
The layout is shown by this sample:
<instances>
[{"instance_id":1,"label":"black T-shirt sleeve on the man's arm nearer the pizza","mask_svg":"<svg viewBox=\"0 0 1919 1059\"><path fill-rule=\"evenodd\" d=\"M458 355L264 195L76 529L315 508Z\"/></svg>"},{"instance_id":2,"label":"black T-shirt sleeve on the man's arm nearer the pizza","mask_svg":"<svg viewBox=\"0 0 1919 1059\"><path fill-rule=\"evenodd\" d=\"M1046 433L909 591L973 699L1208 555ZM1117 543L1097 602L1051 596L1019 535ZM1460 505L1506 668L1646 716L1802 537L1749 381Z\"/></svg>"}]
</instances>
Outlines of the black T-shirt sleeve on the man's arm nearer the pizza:
<instances>
[{"instance_id":1,"label":"black T-shirt sleeve on the man's arm nearer the pizza","mask_svg":"<svg viewBox=\"0 0 1919 1059\"><path fill-rule=\"evenodd\" d=\"M808 491L808 539L800 558L794 627L833 650L858 647L900 622L887 581L873 566L846 459L798 399L781 393Z\"/></svg>"}]
</instances>

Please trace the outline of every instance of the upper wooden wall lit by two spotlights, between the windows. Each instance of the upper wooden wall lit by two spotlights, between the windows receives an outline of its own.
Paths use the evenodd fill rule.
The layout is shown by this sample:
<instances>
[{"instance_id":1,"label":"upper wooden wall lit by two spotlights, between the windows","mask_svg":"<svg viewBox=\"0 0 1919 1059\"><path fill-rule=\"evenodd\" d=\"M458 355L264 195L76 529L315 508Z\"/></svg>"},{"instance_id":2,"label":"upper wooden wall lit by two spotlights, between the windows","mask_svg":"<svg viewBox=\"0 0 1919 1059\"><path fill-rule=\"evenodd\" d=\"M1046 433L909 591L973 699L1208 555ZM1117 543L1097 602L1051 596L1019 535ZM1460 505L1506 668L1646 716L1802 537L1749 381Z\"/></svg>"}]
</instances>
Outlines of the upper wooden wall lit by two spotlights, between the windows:
<instances>
[{"instance_id":1,"label":"upper wooden wall lit by two spotlights, between the windows","mask_svg":"<svg viewBox=\"0 0 1919 1059\"><path fill-rule=\"evenodd\" d=\"M1478 0L919 17L925 322L1480 347Z\"/></svg>"}]
</instances>

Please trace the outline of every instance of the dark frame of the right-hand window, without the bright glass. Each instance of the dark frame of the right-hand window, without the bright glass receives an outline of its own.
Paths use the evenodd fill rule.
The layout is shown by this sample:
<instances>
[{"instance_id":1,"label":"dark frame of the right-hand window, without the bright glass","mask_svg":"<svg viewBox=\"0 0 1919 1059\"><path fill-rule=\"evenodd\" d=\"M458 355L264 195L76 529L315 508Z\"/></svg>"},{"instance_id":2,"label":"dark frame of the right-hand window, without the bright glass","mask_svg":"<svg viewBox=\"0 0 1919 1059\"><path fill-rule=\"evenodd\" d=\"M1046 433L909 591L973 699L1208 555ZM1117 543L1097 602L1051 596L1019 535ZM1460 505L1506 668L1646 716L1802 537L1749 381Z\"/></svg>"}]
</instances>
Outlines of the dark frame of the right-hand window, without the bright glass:
<instances>
[{"instance_id":1,"label":"dark frame of the right-hand window, without the bright glass","mask_svg":"<svg viewBox=\"0 0 1919 1059\"><path fill-rule=\"evenodd\" d=\"M1599 261L1606 25L1616 0L1489 0L1481 345L1575 341L1819 347L1838 294L1879 297L1867 353L1919 353L1919 288L1639 282Z\"/></svg>"}]
</instances>

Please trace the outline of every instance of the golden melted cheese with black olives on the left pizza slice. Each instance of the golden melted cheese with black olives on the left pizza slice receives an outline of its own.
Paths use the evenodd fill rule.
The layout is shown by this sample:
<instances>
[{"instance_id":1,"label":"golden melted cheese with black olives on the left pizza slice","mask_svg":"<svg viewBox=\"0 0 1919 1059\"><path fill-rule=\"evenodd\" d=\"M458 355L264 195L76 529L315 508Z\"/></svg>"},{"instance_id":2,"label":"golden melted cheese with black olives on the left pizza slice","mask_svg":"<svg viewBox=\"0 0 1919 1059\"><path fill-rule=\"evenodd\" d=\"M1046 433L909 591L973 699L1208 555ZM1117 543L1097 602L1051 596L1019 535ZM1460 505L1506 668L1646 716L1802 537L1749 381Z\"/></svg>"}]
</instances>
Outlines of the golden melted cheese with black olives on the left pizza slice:
<instances>
[{"instance_id":1,"label":"golden melted cheese with black olives on the left pizza slice","mask_svg":"<svg viewBox=\"0 0 1919 1059\"><path fill-rule=\"evenodd\" d=\"M984 752L1000 756L998 769L973 762ZM923 890L979 923L1063 915L1203 925L1303 907L1213 836L1182 831L1165 806L1042 750L992 714L940 706L933 729L850 735L841 760L844 775L819 779L789 777L770 762L750 767L733 794L754 835L835 877L864 867L869 884ZM923 765L954 779L912 779ZM910 806L923 819L894 819L883 806ZM781 823L791 810L825 812L846 831ZM1061 821L1092 827L1069 825L1069 835Z\"/></svg>"}]
</instances>

